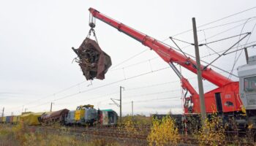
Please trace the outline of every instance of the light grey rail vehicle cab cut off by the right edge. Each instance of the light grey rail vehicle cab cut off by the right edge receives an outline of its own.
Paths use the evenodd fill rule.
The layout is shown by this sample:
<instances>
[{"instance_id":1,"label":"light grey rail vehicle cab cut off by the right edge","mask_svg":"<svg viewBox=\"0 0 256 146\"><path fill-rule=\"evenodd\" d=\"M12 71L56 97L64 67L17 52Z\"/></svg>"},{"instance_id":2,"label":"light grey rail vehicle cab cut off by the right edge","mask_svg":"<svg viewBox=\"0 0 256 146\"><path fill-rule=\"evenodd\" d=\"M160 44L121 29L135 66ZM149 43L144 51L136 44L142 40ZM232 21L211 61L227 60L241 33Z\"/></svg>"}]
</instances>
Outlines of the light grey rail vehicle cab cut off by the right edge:
<instances>
[{"instance_id":1,"label":"light grey rail vehicle cab cut off by the right edge","mask_svg":"<svg viewBox=\"0 0 256 146\"><path fill-rule=\"evenodd\" d=\"M246 110L248 124L256 128L256 55L248 64L238 67L239 93Z\"/></svg>"}]
</instances>

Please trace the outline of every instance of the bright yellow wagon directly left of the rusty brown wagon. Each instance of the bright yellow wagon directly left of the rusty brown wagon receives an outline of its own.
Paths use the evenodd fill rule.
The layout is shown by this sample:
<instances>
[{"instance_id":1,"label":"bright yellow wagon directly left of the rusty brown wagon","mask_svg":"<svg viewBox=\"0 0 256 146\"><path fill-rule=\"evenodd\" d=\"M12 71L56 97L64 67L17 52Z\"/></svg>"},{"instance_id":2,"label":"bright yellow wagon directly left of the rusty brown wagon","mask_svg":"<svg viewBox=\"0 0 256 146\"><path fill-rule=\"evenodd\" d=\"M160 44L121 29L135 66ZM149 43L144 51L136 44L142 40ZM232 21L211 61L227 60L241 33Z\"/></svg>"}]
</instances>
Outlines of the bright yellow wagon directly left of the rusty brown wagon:
<instances>
[{"instance_id":1,"label":"bright yellow wagon directly left of the rusty brown wagon","mask_svg":"<svg viewBox=\"0 0 256 146\"><path fill-rule=\"evenodd\" d=\"M43 113L44 112L37 112L20 115L20 121L26 123L29 126L38 126L41 124L39 121Z\"/></svg>"}]
</instances>

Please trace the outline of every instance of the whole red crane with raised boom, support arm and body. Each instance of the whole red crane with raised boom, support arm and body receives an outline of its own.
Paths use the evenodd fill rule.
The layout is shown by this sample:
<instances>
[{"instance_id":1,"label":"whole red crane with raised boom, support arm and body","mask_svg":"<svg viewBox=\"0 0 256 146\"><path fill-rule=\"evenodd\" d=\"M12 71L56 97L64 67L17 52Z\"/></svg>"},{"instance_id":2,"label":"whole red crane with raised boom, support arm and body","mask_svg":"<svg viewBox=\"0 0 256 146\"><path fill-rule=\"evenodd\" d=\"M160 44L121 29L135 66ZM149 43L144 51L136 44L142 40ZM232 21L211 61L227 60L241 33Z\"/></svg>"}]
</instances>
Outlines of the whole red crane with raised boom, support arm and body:
<instances>
[{"instance_id":1,"label":"whole red crane with raised boom, support arm and body","mask_svg":"<svg viewBox=\"0 0 256 146\"><path fill-rule=\"evenodd\" d=\"M185 97L185 113L200 113L200 100L197 91L195 91L189 81L181 75L178 69L176 69L176 66L173 65L173 63L179 64L197 74L196 62L194 60L178 53L176 50L159 42L157 39L142 34L123 23L119 23L118 21L103 15L96 9L90 8L89 11L94 18L102 20L108 25L118 29L118 31L121 31L129 37L136 39L138 42L141 42L143 45L146 45L151 50L154 50L167 62L167 64L170 64L170 67L181 79L182 88L190 93L189 97ZM243 104L239 96L239 83L228 79L222 74L214 72L211 68L206 68L204 66L200 66L200 68L202 69L202 77L218 86L218 88L205 93L206 112L219 112L224 114L233 114L234 112L237 112L239 115L242 114L243 112L241 110Z\"/></svg>"}]
</instances>

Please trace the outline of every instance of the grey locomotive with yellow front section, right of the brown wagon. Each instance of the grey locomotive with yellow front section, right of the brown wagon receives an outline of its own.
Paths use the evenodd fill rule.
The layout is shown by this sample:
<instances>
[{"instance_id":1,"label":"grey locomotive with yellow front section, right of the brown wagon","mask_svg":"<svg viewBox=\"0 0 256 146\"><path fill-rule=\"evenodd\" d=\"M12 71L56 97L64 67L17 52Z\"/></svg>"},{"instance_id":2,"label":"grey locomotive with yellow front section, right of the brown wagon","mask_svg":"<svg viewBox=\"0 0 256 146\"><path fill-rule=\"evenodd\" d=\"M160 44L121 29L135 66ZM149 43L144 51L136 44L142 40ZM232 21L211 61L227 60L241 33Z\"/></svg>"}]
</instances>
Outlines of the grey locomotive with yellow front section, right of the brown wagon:
<instances>
[{"instance_id":1,"label":"grey locomotive with yellow front section, right of the brown wagon","mask_svg":"<svg viewBox=\"0 0 256 146\"><path fill-rule=\"evenodd\" d=\"M93 105L80 105L76 110L69 111L65 119L67 125L92 125L97 121L97 110Z\"/></svg>"}]
</instances>

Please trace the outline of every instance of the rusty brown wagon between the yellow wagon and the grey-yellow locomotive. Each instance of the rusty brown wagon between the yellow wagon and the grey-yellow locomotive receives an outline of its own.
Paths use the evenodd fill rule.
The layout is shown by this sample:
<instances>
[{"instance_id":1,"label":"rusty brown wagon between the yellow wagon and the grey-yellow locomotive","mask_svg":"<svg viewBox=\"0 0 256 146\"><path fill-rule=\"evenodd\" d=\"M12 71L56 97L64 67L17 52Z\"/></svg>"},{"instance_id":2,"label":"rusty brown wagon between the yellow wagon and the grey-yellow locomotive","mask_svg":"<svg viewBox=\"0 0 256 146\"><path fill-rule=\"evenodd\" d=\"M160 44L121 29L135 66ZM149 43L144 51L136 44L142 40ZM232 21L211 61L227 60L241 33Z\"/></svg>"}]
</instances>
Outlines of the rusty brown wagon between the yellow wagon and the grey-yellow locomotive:
<instances>
[{"instance_id":1,"label":"rusty brown wagon between the yellow wagon and the grey-yellow locomotive","mask_svg":"<svg viewBox=\"0 0 256 146\"><path fill-rule=\"evenodd\" d=\"M56 112L44 113L41 115L40 122L46 125L49 125L52 123L61 123L62 125L65 123L65 118L68 115L68 113L69 113L69 110L67 109L58 110Z\"/></svg>"}]
</instances>

